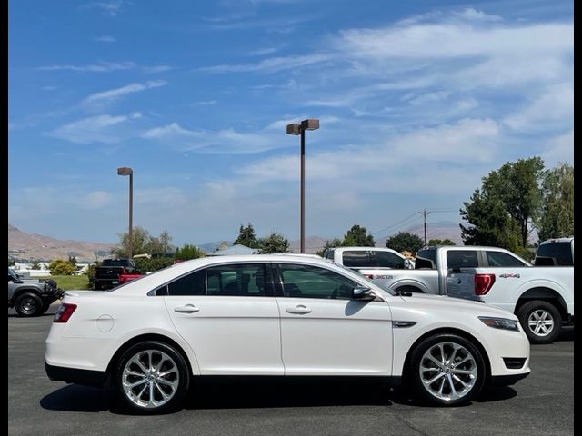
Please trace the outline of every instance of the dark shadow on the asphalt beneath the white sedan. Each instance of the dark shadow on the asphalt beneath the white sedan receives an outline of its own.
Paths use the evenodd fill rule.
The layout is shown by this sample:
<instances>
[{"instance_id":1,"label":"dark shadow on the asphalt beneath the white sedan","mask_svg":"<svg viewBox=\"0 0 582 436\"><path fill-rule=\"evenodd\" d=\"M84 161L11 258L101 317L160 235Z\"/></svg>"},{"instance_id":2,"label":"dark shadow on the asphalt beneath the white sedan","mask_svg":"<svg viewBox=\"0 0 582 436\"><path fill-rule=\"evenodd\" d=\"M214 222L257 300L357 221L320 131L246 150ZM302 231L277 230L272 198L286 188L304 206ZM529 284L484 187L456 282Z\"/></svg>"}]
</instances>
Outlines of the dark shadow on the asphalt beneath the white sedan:
<instances>
[{"instance_id":1,"label":"dark shadow on the asphalt beneath the white sedan","mask_svg":"<svg viewBox=\"0 0 582 436\"><path fill-rule=\"evenodd\" d=\"M290 380L289 380L290 379ZM270 409L335 406L434 405L413 400L406 388L392 389L378 381L333 377L201 377L195 379L183 404L185 410ZM504 401L517 392L510 387L487 387L474 400ZM115 389L95 389L75 384L46 395L41 407L51 411L110 411L135 414L119 401ZM467 404L467 405L470 405Z\"/></svg>"}]
</instances>

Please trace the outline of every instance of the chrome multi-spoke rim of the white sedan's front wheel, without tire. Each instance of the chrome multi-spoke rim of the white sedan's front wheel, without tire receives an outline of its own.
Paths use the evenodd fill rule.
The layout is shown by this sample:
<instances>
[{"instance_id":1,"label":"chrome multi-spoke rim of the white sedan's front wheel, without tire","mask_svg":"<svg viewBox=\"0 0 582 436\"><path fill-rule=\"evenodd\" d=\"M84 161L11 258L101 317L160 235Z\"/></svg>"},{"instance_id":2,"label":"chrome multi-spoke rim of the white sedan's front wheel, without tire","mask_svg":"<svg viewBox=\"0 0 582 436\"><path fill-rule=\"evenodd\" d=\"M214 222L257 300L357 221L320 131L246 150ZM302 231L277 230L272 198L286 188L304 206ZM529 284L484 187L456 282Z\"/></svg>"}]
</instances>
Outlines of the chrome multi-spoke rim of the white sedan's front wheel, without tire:
<instances>
[{"instance_id":1,"label":"chrome multi-spoke rim of the white sedan's front wheel, without tire","mask_svg":"<svg viewBox=\"0 0 582 436\"><path fill-rule=\"evenodd\" d=\"M477 362L467 348L455 342L439 342L420 359L420 380L441 401L463 398L477 381Z\"/></svg>"}]
</instances>

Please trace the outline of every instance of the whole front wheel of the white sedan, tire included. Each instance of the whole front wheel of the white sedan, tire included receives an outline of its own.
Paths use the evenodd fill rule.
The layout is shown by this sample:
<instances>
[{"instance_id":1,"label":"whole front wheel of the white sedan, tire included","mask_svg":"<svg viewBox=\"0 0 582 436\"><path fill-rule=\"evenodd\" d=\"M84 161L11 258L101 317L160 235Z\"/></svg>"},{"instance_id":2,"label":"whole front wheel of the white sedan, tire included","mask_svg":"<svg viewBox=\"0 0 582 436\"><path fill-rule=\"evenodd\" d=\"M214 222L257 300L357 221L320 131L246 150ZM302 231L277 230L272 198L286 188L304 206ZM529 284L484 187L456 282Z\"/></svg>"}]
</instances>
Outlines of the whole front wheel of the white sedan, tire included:
<instances>
[{"instance_id":1,"label":"whole front wheel of the white sedan, tire included","mask_svg":"<svg viewBox=\"0 0 582 436\"><path fill-rule=\"evenodd\" d=\"M440 350L444 350L446 358L453 357L454 362L438 358ZM441 364L429 360L426 357L428 353L441 361ZM463 362L467 357L469 359ZM412 385L418 400L434 405L466 404L481 391L486 379L486 366L481 352L472 342L456 334L440 333L426 338L416 345L410 363L406 381ZM462 371L470 371L472 374ZM430 380L433 381L427 382Z\"/></svg>"}]
</instances>

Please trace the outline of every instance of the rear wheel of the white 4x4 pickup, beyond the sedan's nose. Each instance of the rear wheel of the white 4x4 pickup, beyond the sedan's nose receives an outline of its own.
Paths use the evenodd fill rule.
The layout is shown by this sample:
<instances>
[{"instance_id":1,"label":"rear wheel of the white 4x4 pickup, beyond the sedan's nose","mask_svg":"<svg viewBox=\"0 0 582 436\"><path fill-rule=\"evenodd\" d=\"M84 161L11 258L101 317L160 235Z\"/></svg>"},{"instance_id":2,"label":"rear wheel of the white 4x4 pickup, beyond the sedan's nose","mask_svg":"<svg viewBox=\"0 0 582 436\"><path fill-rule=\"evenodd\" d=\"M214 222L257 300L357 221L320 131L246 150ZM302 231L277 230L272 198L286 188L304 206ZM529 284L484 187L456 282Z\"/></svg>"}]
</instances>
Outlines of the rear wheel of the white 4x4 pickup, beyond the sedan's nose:
<instances>
[{"instance_id":1,"label":"rear wheel of the white 4x4 pickup, beyond the sedan's nose","mask_svg":"<svg viewBox=\"0 0 582 436\"><path fill-rule=\"evenodd\" d=\"M543 300L525 303L517 311L517 318L531 343L554 342L562 328L562 315L557 307Z\"/></svg>"}]
</instances>

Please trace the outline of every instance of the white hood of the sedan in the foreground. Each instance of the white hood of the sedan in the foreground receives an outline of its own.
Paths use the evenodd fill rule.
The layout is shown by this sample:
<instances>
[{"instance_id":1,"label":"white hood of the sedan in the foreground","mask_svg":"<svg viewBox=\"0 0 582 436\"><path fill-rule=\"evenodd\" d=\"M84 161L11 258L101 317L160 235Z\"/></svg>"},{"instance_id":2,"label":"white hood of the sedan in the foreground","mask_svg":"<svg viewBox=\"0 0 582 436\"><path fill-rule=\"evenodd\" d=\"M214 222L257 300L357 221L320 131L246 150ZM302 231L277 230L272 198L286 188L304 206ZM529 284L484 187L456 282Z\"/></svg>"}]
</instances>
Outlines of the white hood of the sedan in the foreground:
<instances>
[{"instance_id":1,"label":"white hood of the sedan in the foreground","mask_svg":"<svg viewBox=\"0 0 582 436\"><path fill-rule=\"evenodd\" d=\"M484 302L475 302L462 298L449 297L447 295L429 295L426 293L413 293L410 297L400 296L407 305L418 306L419 309L426 310L431 307L435 309L447 308L453 311L478 312L481 316L497 316L517 320L516 315L503 309L498 309Z\"/></svg>"}]
</instances>

